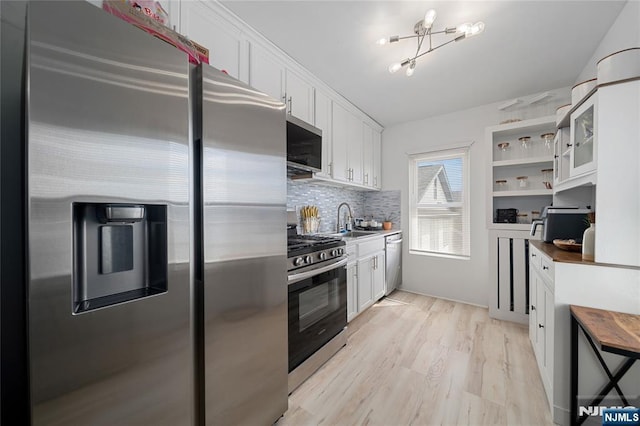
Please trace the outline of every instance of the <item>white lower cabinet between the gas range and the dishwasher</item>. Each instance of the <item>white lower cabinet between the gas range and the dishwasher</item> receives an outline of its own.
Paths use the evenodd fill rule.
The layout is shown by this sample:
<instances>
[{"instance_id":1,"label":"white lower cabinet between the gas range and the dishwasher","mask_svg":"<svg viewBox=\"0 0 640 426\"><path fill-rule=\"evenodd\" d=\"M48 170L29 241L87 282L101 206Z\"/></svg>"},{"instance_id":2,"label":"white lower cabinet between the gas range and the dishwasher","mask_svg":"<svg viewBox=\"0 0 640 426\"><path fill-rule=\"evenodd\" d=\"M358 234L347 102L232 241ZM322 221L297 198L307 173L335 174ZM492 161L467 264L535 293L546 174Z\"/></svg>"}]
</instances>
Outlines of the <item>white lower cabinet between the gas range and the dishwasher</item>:
<instances>
[{"instance_id":1,"label":"white lower cabinet between the gas range and the dishwasher","mask_svg":"<svg viewBox=\"0 0 640 426\"><path fill-rule=\"evenodd\" d=\"M384 237L347 243L347 321L351 321L384 296Z\"/></svg>"}]
</instances>

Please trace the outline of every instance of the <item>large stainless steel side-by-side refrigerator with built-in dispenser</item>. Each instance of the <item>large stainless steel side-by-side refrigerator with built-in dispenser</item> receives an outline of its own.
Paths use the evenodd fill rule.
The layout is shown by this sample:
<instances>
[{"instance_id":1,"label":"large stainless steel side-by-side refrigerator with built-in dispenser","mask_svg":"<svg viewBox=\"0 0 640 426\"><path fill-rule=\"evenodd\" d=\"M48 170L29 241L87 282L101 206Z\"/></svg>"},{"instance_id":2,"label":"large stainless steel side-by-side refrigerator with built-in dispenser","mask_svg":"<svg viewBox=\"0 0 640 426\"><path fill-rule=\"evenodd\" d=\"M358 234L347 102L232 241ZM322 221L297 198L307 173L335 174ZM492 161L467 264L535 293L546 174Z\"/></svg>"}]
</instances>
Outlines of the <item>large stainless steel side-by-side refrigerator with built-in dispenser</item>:
<instances>
[{"instance_id":1,"label":"large stainless steel side-by-side refrigerator with built-in dispenser","mask_svg":"<svg viewBox=\"0 0 640 426\"><path fill-rule=\"evenodd\" d=\"M3 423L274 422L282 104L85 2L1 11Z\"/></svg>"}]
</instances>

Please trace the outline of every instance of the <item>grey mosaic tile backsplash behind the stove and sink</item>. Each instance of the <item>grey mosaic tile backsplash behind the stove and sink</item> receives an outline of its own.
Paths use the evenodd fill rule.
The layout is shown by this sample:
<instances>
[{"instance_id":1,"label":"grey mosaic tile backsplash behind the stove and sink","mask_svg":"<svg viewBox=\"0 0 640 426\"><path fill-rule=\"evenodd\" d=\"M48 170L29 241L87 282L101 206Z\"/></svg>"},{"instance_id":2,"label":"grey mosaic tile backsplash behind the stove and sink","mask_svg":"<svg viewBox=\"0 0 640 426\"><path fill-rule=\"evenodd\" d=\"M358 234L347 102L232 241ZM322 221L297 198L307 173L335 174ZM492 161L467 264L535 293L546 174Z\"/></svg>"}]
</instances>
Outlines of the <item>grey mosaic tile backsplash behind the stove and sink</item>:
<instances>
[{"instance_id":1,"label":"grey mosaic tile backsplash behind the stove and sink","mask_svg":"<svg viewBox=\"0 0 640 426\"><path fill-rule=\"evenodd\" d=\"M349 204L354 218L390 217L393 227L400 228L400 191L360 191L308 181L287 181L287 210L295 210L298 225L300 208L314 205L320 211L319 232L336 232L337 209L343 202ZM346 212L343 207L342 218Z\"/></svg>"}]
</instances>

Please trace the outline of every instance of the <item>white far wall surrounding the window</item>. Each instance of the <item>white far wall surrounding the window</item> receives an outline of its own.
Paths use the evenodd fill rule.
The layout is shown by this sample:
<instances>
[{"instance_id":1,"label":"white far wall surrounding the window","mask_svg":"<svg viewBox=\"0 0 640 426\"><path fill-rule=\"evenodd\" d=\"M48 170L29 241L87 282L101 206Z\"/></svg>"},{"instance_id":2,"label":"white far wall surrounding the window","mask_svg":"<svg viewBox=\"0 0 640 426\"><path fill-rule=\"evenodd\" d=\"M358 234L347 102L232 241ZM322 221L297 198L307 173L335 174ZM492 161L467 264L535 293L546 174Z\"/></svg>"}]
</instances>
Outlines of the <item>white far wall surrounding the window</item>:
<instances>
[{"instance_id":1,"label":"white far wall surrounding the window","mask_svg":"<svg viewBox=\"0 0 640 426\"><path fill-rule=\"evenodd\" d=\"M555 102L566 103L569 88L557 89ZM428 100L427 100L428 101ZM487 306L489 301L489 233L486 227L487 173L490 149L485 128L504 119L504 101L424 120L387 127L382 134L383 189L400 190L403 231L409 231L407 154L474 142L470 151L471 259L409 254L403 245L402 288L408 291ZM552 110L555 111L554 108ZM532 118L532 117L526 117ZM407 238L408 241L408 238Z\"/></svg>"}]
</instances>

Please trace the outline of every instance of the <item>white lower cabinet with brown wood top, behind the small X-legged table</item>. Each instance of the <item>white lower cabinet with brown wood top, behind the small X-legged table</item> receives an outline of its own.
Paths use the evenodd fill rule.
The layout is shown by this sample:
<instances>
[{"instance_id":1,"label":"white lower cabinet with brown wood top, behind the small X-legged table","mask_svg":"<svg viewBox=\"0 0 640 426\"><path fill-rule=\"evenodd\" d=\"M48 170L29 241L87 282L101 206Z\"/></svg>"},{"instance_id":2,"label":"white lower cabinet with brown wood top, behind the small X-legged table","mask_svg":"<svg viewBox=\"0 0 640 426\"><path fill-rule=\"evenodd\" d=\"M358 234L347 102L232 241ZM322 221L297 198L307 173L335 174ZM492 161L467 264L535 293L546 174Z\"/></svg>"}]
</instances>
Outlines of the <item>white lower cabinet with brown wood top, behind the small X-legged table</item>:
<instances>
[{"instance_id":1,"label":"white lower cabinet with brown wood top, behind the small X-legged table","mask_svg":"<svg viewBox=\"0 0 640 426\"><path fill-rule=\"evenodd\" d=\"M553 422L569 425L569 305L640 314L640 269L581 262L579 253L540 241L530 241L529 248L529 339ZM594 396L606 376L585 339L578 340L578 394ZM601 354L610 370L621 362L617 355ZM621 383L625 394L640 394L640 369L630 370Z\"/></svg>"}]
</instances>

